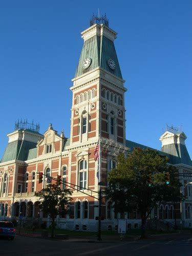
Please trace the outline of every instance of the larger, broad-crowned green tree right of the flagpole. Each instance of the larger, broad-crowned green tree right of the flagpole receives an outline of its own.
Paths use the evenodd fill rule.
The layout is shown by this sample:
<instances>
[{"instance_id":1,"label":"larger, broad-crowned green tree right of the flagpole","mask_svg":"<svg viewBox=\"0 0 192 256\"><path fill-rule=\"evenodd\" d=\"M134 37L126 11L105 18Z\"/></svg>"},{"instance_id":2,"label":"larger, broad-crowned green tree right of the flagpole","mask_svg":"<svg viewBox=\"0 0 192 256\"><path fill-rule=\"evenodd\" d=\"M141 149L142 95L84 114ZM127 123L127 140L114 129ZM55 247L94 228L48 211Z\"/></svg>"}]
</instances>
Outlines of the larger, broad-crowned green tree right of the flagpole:
<instances>
[{"instance_id":1,"label":"larger, broad-crowned green tree right of the flagpole","mask_svg":"<svg viewBox=\"0 0 192 256\"><path fill-rule=\"evenodd\" d=\"M127 157L119 155L116 169L108 175L108 195L116 212L141 215L141 238L145 237L146 220L159 202L180 202L180 182L177 169L167 164L168 158L155 150L134 148ZM170 184L165 183L165 173L170 174ZM174 184L174 188L172 187Z\"/></svg>"}]
</instances>

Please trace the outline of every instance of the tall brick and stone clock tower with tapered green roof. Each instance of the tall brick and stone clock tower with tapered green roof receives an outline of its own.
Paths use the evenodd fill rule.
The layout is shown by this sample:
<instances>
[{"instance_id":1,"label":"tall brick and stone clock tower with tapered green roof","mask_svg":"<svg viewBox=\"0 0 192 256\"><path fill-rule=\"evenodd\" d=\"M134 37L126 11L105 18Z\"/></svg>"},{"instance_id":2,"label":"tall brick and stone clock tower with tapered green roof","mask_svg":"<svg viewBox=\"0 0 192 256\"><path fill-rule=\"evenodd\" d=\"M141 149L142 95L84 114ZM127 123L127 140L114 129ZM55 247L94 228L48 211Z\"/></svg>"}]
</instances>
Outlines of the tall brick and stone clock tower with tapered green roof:
<instances>
[{"instance_id":1,"label":"tall brick and stone clock tower with tapered green roof","mask_svg":"<svg viewBox=\"0 0 192 256\"><path fill-rule=\"evenodd\" d=\"M98 141L125 145L124 80L115 51L117 33L106 16L93 16L81 33L84 40L75 77L71 145Z\"/></svg>"}]
</instances>

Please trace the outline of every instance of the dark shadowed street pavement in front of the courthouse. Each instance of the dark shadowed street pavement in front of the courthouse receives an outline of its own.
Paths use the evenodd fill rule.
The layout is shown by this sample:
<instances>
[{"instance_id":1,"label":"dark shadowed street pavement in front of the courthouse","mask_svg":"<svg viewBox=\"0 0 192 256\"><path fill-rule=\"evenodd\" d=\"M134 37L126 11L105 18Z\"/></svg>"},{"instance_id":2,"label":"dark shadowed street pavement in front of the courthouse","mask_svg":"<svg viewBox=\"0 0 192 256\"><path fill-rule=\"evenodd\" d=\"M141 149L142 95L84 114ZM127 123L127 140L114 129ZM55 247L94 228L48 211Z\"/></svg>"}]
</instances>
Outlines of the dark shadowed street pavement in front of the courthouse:
<instances>
[{"instance_id":1,"label":"dark shadowed street pavement in front of the courthouse","mask_svg":"<svg viewBox=\"0 0 192 256\"><path fill-rule=\"evenodd\" d=\"M192 236L175 234L140 241L45 240L16 236L0 240L1 255L192 255Z\"/></svg>"}]
</instances>

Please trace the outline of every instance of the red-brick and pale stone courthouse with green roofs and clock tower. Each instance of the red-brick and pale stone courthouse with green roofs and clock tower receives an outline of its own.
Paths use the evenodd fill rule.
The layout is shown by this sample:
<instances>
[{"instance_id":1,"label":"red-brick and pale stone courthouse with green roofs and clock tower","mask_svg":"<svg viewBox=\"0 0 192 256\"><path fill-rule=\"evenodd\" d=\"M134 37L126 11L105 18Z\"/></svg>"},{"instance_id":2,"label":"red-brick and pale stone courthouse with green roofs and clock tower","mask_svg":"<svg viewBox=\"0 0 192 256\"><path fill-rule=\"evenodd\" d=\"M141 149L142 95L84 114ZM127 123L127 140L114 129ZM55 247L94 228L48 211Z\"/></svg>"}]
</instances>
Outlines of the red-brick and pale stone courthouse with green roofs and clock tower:
<instances>
[{"instance_id":1,"label":"red-brick and pale stone courthouse with green roofs and clock tower","mask_svg":"<svg viewBox=\"0 0 192 256\"><path fill-rule=\"evenodd\" d=\"M134 147L147 148L125 136L126 88L114 46L116 36L105 16L93 17L90 27L81 33L84 44L70 88L73 94L70 138L66 138L63 131L55 131L49 120L43 135L39 133L39 125L29 125L26 121L18 121L15 130L8 134L8 145L0 162L1 219L22 216L26 222L35 218L48 221L34 196L35 191L48 184L45 176L43 182L38 183L37 172L42 172L55 178L61 175L63 181L79 186L75 187L77 190L72 189L69 214L59 216L57 226L97 229L98 163L94 160L94 149L99 135L102 189L107 187L107 173L116 166L120 153L132 152ZM160 137L162 148L159 153L168 156L169 162L184 174L181 189L186 200L181 204L158 205L151 218L174 222L176 214L177 222L182 221L183 226L188 227L192 223L192 189L188 184L192 164L185 139L183 132L166 131ZM65 188L65 183L62 186ZM139 212L115 214L108 200L102 202L101 216L105 230L114 230L118 218L126 218L129 227L140 226Z\"/></svg>"}]
</instances>

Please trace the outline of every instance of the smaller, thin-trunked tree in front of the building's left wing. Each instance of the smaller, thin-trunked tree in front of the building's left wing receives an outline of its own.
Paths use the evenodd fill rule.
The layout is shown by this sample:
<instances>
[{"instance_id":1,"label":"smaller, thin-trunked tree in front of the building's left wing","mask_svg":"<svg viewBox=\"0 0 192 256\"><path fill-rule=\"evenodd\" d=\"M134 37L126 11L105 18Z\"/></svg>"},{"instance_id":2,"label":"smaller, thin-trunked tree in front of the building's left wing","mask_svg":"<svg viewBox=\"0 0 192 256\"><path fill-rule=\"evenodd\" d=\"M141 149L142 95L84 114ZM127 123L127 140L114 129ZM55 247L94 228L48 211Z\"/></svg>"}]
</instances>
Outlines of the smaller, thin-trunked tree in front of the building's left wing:
<instances>
[{"instance_id":1,"label":"smaller, thin-trunked tree in front of the building's left wing","mask_svg":"<svg viewBox=\"0 0 192 256\"><path fill-rule=\"evenodd\" d=\"M72 192L70 189L61 189L57 184L49 184L46 188L36 192L35 196L39 197L39 206L51 219L51 237L54 237L54 223L57 215L61 214L71 201Z\"/></svg>"}]
</instances>

